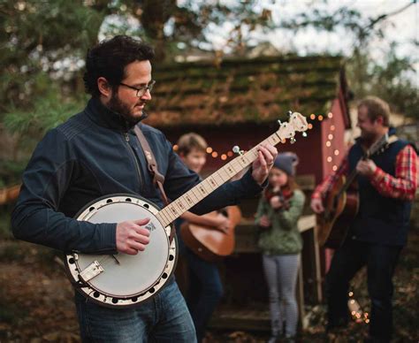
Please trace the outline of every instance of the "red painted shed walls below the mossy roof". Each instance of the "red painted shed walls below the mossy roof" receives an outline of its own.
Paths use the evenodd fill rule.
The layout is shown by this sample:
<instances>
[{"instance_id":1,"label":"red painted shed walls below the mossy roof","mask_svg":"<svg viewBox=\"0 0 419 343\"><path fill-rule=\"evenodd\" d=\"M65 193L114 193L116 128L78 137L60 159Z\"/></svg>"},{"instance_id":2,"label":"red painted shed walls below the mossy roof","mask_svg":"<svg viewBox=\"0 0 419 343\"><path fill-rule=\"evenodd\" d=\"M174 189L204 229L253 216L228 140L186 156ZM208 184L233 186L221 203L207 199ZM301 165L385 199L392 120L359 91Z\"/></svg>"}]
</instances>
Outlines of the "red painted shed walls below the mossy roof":
<instances>
[{"instance_id":1,"label":"red painted shed walls below the mossy roof","mask_svg":"<svg viewBox=\"0 0 419 343\"><path fill-rule=\"evenodd\" d=\"M313 128L307 131L308 137L304 138L301 133L297 133L297 141L294 144L286 141L285 144L278 144L277 146L279 152L295 152L300 157L297 173L314 174L317 183L324 179L326 173L331 171L332 165L339 163L342 156L341 152L344 150L345 124L338 101L333 102L331 112L333 113L332 118L326 118L322 121L317 118L315 120L309 119ZM334 126L334 132L331 131L331 126ZM164 133L172 144L176 144L179 136L183 133L194 131L201 134L208 142L209 147L218 153L217 158L213 158L210 154L207 157L207 164L202 173L209 174L233 158L223 161L220 156L231 151L234 145L240 146L240 149L243 150L251 149L277 130L278 123L272 123L263 126L238 124L237 126L197 127L194 129L177 128L164 131ZM333 134L331 140L329 140L329 134ZM327 141L331 141L331 147L326 147ZM333 155L335 149L339 150L339 156ZM327 162L328 156L332 157L331 162Z\"/></svg>"}]
</instances>

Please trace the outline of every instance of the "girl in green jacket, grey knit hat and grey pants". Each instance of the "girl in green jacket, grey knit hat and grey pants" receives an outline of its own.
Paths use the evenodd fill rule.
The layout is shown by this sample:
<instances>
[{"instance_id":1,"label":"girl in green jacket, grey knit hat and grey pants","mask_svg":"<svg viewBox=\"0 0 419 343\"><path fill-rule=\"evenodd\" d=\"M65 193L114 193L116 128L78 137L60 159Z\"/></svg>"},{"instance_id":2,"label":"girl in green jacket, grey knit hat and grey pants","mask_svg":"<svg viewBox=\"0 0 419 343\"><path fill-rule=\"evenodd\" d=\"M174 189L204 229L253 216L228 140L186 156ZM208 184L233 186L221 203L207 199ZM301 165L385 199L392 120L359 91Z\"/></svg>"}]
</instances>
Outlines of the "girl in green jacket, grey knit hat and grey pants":
<instances>
[{"instance_id":1,"label":"girl in green jacket, grey knit hat and grey pants","mask_svg":"<svg viewBox=\"0 0 419 343\"><path fill-rule=\"evenodd\" d=\"M263 271L269 289L272 334L269 342L275 342L283 334L293 341L297 330L295 286L302 248L297 221L305 196L293 181L296 164L295 154L278 154L255 217L255 224L260 227L258 246L263 252Z\"/></svg>"}]
</instances>

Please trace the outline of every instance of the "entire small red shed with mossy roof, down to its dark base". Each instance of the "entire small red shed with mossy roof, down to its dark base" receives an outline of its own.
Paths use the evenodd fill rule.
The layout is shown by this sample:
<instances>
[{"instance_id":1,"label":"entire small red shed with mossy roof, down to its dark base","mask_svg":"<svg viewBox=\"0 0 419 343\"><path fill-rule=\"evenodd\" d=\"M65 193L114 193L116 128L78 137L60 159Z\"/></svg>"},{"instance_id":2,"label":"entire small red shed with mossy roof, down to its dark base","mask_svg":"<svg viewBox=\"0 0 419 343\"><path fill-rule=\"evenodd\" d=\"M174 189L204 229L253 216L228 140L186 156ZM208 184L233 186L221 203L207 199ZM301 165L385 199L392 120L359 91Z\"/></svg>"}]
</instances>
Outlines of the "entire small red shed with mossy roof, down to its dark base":
<instances>
[{"instance_id":1,"label":"entire small red shed with mossy roof, down to its dark base","mask_svg":"<svg viewBox=\"0 0 419 343\"><path fill-rule=\"evenodd\" d=\"M277 131L278 120L287 120L287 111L301 112L309 121L307 138L299 135L294 144L287 141L277 147L300 157L297 182L307 194L307 203L315 185L337 168L346 150L349 91L342 57L230 58L217 63L161 65L153 70L153 78L156 87L146 123L161 129L173 144L183 133L201 134L209 143L204 175L232 159L233 146L248 150ZM236 228L236 249L220 263L225 300L213 318L212 324L218 327L269 328L267 291L255 247L257 201L240 205L243 219ZM304 301L321 300L324 274L324 253L319 258L314 216L308 206L305 214L301 218L305 248L299 278L302 313ZM241 313L260 309L265 315L260 312L235 320L232 316L239 314L238 307Z\"/></svg>"}]
</instances>

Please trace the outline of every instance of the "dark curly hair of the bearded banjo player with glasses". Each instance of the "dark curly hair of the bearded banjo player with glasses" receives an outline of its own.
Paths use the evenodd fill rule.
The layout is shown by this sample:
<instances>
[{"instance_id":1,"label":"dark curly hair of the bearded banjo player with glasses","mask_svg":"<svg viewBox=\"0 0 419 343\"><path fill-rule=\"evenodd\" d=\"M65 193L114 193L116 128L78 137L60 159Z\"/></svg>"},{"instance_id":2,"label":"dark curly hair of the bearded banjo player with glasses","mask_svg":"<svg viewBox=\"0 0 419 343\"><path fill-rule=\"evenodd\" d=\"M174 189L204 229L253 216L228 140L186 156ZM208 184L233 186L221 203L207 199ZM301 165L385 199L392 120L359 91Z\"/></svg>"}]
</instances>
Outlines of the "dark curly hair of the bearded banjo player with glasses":
<instances>
[{"instance_id":1,"label":"dark curly hair of the bearded banjo player with glasses","mask_svg":"<svg viewBox=\"0 0 419 343\"><path fill-rule=\"evenodd\" d=\"M155 56L153 48L127 35L117 35L104 40L88 50L86 72L83 80L86 92L99 96L97 79L105 78L113 88L126 77L126 65L135 61L152 60Z\"/></svg>"}]
</instances>

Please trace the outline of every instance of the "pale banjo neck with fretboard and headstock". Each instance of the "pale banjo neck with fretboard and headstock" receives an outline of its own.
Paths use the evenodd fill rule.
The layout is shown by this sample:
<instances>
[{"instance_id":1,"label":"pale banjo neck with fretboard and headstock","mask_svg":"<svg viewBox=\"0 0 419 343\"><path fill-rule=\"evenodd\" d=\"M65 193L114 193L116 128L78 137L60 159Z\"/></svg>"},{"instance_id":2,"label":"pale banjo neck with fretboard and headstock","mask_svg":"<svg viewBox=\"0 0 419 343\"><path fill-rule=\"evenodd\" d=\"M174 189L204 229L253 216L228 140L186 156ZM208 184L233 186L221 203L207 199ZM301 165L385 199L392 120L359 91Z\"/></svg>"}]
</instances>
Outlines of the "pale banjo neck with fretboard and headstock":
<instances>
[{"instance_id":1,"label":"pale banjo neck with fretboard and headstock","mask_svg":"<svg viewBox=\"0 0 419 343\"><path fill-rule=\"evenodd\" d=\"M308 129L306 118L298 112L290 114L289 122L279 122L279 124L280 127L277 132L272 133L267 139L248 150L248 152L237 156L221 169L209 175L208 178L202 180L201 183L191 188L186 194L181 195L178 199L164 207L163 210L160 210L156 214L160 223L164 227L170 225L174 220L187 212L187 210L194 207L195 204L201 202L202 199L214 192L218 187L222 186L229 179L232 179L234 175L247 168L257 158L259 145L269 143L275 146L279 142L285 143L287 138L293 142L295 141L295 131L305 132Z\"/></svg>"}]
</instances>

